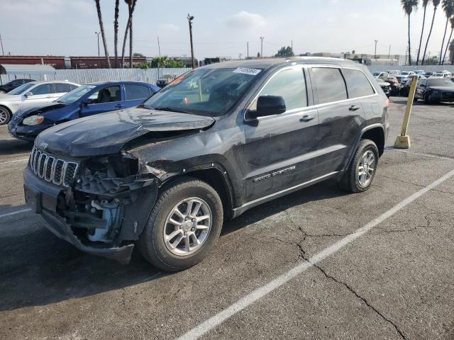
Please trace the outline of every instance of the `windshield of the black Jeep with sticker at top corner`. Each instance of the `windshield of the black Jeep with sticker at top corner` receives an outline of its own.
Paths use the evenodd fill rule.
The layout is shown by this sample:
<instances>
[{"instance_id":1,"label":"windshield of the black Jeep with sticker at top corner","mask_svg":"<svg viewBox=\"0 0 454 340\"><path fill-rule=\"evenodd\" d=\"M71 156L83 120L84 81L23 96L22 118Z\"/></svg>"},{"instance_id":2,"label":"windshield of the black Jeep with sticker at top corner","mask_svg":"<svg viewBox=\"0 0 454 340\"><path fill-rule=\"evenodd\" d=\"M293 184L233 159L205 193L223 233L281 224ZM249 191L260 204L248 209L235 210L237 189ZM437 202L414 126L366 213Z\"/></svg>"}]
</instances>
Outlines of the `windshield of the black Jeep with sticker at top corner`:
<instances>
[{"instance_id":1,"label":"windshield of the black Jeep with sticker at top corner","mask_svg":"<svg viewBox=\"0 0 454 340\"><path fill-rule=\"evenodd\" d=\"M195 69L143 103L145 108L222 115L241 98L261 69Z\"/></svg>"}]
</instances>

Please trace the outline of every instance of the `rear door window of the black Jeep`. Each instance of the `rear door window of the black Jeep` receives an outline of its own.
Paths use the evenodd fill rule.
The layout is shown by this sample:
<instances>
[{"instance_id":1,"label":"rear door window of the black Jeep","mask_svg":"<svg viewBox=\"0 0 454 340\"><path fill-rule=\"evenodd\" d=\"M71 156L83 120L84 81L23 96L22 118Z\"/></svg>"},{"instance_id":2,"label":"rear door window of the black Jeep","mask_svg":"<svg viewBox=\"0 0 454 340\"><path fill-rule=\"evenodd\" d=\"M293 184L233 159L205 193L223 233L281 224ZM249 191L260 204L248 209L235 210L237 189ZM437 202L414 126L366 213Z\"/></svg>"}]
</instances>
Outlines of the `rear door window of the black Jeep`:
<instances>
[{"instance_id":1,"label":"rear door window of the black Jeep","mask_svg":"<svg viewBox=\"0 0 454 340\"><path fill-rule=\"evenodd\" d=\"M347 89L340 69L314 67L312 72L319 94L319 104L347 99Z\"/></svg>"}]
</instances>

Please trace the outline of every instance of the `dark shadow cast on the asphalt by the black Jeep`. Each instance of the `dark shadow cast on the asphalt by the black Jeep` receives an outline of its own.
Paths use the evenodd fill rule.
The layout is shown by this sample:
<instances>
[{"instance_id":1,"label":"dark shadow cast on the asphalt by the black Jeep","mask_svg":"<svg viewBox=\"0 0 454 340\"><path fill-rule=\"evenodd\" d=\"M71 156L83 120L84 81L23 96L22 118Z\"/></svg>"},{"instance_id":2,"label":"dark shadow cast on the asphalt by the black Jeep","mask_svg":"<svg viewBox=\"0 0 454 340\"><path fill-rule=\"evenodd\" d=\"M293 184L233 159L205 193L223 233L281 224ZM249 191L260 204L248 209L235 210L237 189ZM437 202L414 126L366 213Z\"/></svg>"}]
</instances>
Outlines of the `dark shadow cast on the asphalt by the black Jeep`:
<instances>
[{"instance_id":1,"label":"dark shadow cast on the asphalt by the black Jeep","mask_svg":"<svg viewBox=\"0 0 454 340\"><path fill-rule=\"evenodd\" d=\"M226 222L221 237L288 208L342 195L336 183L319 183ZM131 263L125 266L84 254L55 237L45 229L40 217L31 212L7 217L0 225L0 310L48 305L172 275L151 266L138 251L134 251Z\"/></svg>"}]
</instances>

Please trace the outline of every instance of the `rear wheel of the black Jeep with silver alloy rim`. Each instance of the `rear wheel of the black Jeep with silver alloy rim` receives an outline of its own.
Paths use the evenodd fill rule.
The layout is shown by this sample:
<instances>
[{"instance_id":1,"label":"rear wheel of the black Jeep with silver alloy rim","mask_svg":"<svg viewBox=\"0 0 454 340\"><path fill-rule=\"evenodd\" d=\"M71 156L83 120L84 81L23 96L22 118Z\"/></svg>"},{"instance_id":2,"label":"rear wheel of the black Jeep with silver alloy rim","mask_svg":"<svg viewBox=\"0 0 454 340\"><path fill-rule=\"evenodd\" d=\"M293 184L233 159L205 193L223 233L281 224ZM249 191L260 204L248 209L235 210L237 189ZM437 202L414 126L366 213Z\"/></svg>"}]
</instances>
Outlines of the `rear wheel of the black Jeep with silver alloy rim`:
<instances>
[{"instance_id":1,"label":"rear wheel of the black Jeep with silver alloy rim","mask_svg":"<svg viewBox=\"0 0 454 340\"><path fill-rule=\"evenodd\" d=\"M378 158L379 153L375 142L361 140L353 161L339 181L339 187L348 193L369 190L377 171Z\"/></svg>"}]
</instances>

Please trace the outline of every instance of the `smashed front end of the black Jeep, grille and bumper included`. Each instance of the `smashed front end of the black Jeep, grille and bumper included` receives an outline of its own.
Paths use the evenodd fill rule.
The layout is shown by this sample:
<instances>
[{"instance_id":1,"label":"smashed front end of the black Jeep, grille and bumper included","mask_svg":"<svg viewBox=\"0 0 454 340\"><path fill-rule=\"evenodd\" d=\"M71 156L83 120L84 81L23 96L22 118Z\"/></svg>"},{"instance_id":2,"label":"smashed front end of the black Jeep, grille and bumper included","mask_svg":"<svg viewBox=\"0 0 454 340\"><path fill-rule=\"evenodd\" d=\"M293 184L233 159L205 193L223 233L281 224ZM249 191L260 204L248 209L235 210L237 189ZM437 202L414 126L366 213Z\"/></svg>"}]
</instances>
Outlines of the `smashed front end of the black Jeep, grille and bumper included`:
<instances>
[{"instance_id":1,"label":"smashed front end of the black Jeep, grille and bumper included","mask_svg":"<svg viewBox=\"0 0 454 340\"><path fill-rule=\"evenodd\" d=\"M59 159L33 148L26 201L58 237L128 263L157 196L157 178L133 154Z\"/></svg>"}]
</instances>

